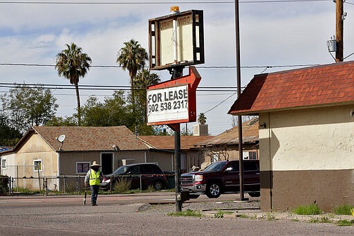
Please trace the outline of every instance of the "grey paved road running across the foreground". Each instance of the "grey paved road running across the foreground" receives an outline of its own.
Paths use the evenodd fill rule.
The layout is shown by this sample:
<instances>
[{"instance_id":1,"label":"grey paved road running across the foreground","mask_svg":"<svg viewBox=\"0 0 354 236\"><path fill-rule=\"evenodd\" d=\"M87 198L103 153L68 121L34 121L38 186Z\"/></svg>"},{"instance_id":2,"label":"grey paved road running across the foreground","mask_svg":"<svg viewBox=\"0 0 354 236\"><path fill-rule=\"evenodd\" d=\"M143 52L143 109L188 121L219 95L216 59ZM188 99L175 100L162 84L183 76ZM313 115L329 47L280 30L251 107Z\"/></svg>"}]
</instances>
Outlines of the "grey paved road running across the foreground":
<instances>
[{"instance_id":1,"label":"grey paved road running across the foreground","mask_svg":"<svg viewBox=\"0 0 354 236\"><path fill-rule=\"evenodd\" d=\"M197 201L225 201L200 197ZM152 207L146 202L172 203ZM88 200L89 202L89 200ZM0 235L353 235L354 227L293 221L171 217L174 193L82 197L0 197ZM162 208L161 208L162 207ZM144 210L145 208L149 208ZM165 211L161 211L165 209ZM93 227L94 226L94 227Z\"/></svg>"}]
</instances>

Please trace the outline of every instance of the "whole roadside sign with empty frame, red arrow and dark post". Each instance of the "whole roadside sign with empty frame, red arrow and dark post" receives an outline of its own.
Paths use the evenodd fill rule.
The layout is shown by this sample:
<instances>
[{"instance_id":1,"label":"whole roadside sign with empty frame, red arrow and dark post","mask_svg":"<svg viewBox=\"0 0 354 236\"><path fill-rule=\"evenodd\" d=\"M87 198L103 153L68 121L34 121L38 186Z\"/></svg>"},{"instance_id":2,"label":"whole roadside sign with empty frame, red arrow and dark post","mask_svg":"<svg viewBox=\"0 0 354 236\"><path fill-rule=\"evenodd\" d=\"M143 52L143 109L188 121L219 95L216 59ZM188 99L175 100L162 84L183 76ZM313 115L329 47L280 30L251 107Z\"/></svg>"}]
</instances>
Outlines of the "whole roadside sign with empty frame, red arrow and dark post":
<instances>
[{"instance_id":1,"label":"whole roadside sign with empty frame, red arrow and dark post","mask_svg":"<svg viewBox=\"0 0 354 236\"><path fill-rule=\"evenodd\" d=\"M180 123L196 121L196 88L201 81L192 65L204 63L203 10L149 19L149 66L167 69L171 80L147 87L147 125L168 125L175 136L176 210L182 210L180 188ZM183 68L189 66L189 75Z\"/></svg>"}]
</instances>

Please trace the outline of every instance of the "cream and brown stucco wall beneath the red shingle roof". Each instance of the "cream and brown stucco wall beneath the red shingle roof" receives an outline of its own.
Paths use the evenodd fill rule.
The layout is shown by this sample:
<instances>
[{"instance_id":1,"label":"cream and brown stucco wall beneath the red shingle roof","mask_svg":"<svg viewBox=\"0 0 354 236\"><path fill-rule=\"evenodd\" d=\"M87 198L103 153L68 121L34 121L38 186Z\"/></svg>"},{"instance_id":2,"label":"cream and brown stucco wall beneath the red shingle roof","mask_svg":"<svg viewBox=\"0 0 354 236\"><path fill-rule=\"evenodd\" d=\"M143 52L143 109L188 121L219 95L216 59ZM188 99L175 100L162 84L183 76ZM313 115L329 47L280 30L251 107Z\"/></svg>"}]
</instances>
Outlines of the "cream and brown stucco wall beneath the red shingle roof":
<instances>
[{"instance_id":1,"label":"cream and brown stucco wall beneath the red shingle roof","mask_svg":"<svg viewBox=\"0 0 354 236\"><path fill-rule=\"evenodd\" d=\"M354 204L352 110L344 105L259 114L259 124L265 123L259 129L262 210Z\"/></svg>"}]
</instances>

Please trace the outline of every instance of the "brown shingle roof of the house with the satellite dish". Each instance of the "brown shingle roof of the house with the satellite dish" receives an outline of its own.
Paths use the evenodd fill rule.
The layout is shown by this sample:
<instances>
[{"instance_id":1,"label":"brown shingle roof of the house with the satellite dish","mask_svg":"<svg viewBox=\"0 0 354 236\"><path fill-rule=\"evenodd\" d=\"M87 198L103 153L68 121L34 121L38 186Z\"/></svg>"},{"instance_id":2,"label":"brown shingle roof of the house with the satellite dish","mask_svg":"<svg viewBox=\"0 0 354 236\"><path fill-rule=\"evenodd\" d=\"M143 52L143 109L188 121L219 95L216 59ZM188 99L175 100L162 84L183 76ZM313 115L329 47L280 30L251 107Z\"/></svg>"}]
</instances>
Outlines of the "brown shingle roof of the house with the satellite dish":
<instances>
[{"instance_id":1,"label":"brown shingle roof of the house with the satellite dish","mask_svg":"<svg viewBox=\"0 0 354 236\"><path fill-rule=\"evenodd\" d=\"M37 133L50 147L59 151L60 143L55 137L65 134L63 152L73 151L113 151L147 149L147 145L125 126L113 127L32 127L16 145L21 145L30 134ZM15 148L16 148L15 146Z\"/></svg>"}]
</instances>

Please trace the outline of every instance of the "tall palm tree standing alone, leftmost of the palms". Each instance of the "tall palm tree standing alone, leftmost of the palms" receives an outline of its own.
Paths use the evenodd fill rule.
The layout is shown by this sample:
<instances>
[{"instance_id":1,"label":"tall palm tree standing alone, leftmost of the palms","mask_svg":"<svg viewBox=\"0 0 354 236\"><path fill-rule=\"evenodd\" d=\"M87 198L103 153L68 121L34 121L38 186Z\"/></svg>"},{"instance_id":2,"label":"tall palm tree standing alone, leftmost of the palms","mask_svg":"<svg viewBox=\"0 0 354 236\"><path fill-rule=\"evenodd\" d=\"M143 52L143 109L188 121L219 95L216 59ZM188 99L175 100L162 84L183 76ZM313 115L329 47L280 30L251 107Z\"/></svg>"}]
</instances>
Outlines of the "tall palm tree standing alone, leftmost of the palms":
<instances>
[{"instance_id":1,"label":"tall palm tree standing alone, leftmost of the palms","mask_svg":"<svg viewBox=\"0 0 354 236\"><path fill-rule=\"evenodd\" d=\"M81 126L81 109L79 96L79 79L84 77L92 63L91 57L86 53L82 53L82 48L72 43L66 44L66 49L57 54L55 69L59 76L64 76L70 80L71 84L75 84L77 99L77 125Z\"/></svg>"}]
</instances>

